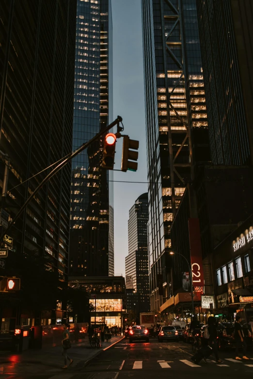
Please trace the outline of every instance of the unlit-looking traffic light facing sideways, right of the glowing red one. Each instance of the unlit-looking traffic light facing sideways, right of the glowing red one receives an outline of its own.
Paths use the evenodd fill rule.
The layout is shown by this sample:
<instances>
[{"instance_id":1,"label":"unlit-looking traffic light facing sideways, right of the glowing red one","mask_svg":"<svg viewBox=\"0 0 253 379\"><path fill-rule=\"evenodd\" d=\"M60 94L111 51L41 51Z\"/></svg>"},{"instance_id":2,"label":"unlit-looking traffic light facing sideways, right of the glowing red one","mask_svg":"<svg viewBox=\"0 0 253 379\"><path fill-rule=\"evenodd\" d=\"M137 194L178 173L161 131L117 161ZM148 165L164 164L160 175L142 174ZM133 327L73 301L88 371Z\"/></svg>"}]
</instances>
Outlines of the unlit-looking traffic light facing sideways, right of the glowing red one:
<instances>
[{"instance_id":1,"label":"unlit-looking traffic light facing sideways, right of the glowing red one","mask_svg":"<svg viewBox=\"0 0 253 379\"><path fill-rule=\"evenodd\" d=\"M138 163L132 162L132 161L137 161L138 152L134 150L138 150L138 149L139 149L139 141L130 139L128 136L123 137L121 171L124 171L124 172L126 172L127 170L137 171Z\"/></svg>"}]
</instances>

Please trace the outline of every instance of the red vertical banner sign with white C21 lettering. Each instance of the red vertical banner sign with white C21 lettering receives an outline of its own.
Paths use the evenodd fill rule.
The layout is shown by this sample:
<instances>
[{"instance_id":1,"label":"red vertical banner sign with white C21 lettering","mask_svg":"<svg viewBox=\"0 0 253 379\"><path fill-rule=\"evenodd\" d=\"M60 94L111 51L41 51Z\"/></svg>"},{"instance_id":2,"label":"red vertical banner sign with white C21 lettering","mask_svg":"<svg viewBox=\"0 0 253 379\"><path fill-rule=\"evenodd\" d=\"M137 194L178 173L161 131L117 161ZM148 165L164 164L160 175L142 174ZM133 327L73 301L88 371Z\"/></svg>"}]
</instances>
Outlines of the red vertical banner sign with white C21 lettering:
<instances>
[{"instance_id":1,"label":"red vertical banner sign with white C21 lettering","mask_svg":"<svg viewBox=\"0 0 253 379\"><path fill-rule=\"evenodd\" d=\"M202 249L200 239L200 226L198 218L188 219L190 240L190 261L192 271L192 286L204 286L204 273L202 265Z\"/></svg>"}]
</instances>

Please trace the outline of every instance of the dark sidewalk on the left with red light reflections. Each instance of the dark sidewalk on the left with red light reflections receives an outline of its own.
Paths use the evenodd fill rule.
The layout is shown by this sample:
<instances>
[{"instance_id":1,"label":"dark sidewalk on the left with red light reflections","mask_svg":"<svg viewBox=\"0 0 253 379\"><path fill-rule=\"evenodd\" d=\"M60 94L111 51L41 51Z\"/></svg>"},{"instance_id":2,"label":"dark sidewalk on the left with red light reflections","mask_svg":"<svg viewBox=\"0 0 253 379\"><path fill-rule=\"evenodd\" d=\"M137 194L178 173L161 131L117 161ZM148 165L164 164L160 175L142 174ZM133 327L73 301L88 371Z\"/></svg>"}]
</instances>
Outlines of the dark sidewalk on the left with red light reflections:
<instances>
[{"instance_id":1,"label":"dark sidewalk on the left with red light reflections","mask_svg":"<svg viewBox=\"0 0 253 379\"><path fill-rule=\"evenodd\" d=\"M62 369L64 361L61 346L42 350L26 350L22 354L4 354L0 356L0 378L4 379L5 375L17 374L34 377L35 375L53 376L63 372L70 373L70 371L77 373L96 355L100 354L103 349L110 347L123 338L123 336L113 336L111 342L101 343L101 349L92 349L88 340L72 344L71 349L68 350L68 355L74 362L67 370Z\"/></svg>"}]
</instances>

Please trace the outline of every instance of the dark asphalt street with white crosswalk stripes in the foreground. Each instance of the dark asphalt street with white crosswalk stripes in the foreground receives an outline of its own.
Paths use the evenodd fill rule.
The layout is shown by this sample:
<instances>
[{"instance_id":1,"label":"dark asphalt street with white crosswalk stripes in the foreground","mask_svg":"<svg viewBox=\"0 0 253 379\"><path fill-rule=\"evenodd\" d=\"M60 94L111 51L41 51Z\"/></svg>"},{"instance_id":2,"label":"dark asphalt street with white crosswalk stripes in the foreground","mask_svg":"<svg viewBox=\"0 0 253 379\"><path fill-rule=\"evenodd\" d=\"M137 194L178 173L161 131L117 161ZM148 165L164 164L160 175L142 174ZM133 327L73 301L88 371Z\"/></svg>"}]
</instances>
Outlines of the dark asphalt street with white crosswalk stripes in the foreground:
<instances>
[{"instance_id":1,"label":"dark asphalt street with white crosswalk stripes in the foreground","mask_svg":"<svg viewBox=\"0 0 253 379\"><path fill-rule=\"evenodd\" d=\"M70 353L71 354L71 353ZM209 378L242 378L253 375L253 352L248 356L252 358L247 362L235 361L235 351L220 353L224 362L216 364L210 356L207 364L201 361L195 365L190 361L192 356L191 346L183 342L158 343L151 338L149 343L136 342L129 344L128 339L123 339L110 349L101 351L86 367L73 364L67 370L56 373L53 367L46 371L41 365L40 373L19 374L0 372L0 379L133 379L141 378L168 378L176 379L196 378L196 375ZM46 363L45 363L46 364ZM46 368L46 366L45 366ZM53 374L54 371L54 374Z\"/></svg>"}]
</instances>

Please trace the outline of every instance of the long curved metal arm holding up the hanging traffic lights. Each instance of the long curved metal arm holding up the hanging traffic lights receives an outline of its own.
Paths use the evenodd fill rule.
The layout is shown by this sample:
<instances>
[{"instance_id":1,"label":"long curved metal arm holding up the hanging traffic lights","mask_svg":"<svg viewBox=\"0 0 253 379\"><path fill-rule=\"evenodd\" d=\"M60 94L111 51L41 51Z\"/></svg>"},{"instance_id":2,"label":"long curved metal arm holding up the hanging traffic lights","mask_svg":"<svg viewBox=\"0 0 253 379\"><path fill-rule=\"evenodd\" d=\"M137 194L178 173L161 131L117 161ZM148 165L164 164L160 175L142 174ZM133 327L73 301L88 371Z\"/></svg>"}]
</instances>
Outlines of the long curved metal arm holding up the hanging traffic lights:
<instances>
[{"instance_id":1,"label":"long curved metal arm holding up the hanging traffic lights","mask_svg":"<svg viewBox=\"0 0 253 379\"><path fill-rule=\"evenodd\" d=\"M122 122L122 117L118 116L116 120L112 121L110 125L108 125L105 129L101 130L99 133L97 133L92 139L90 139L88 142L84 143L82 146L80 146L75 152L72 152L69 157L64 159L63 162L61 162L58 166L56 166L43 181L38 185L38 187L33 191L32 195L28 197L24 205L20 208L20 210L17 212L16 216L12 220L12 222L9 224L9 226L6 228L4 233L0 236L0 241L2 241L3 237L7 232L10 230L10 228L15 224L18 217L22 214L22 212L26 209L27 205L32 200L32 197L37 194L37 192L43 187L43 185L51 179L58 171L60 171L69 161L71 161L72 158L74 158L76 155L78 155L83 150L87 149L88 146L90 146L96 139L103 136L105 133L107 133L113 126L119 124Z\"/></svg>"}]
</instances>

